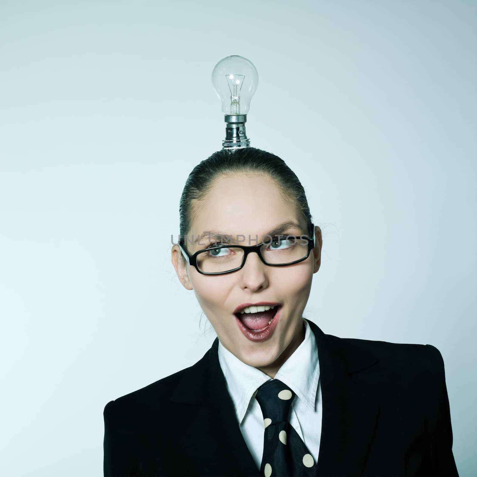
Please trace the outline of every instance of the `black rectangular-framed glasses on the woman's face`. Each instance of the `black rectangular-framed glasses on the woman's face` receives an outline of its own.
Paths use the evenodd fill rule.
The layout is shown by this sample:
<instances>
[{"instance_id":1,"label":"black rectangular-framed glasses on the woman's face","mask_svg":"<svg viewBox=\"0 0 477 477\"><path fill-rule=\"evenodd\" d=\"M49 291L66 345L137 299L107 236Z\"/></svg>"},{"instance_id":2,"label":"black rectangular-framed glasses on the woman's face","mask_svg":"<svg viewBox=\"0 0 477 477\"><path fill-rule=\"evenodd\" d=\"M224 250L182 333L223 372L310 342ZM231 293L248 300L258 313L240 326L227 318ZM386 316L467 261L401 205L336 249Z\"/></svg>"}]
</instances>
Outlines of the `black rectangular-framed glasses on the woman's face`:
<instances>
[{"instance_id":1,"label":"black rectangular-framed glasses on the woman's face","mask_svg":"<svg viewBox=\"0 0 477 477\"><path fill-rule=\"evenodd\" d=\"M245 265L247 255L256 252L265 265L286 267L306 260L315 248L315 226L311 224L313 239L306 235L281 235L257 245L214 245L189 255L179 241L182 255L202 275L223 275L240 270ZM310 234L311 235L311 234ZM220 242L223 243L223 242Z\"/></svg>"}]
</instances>

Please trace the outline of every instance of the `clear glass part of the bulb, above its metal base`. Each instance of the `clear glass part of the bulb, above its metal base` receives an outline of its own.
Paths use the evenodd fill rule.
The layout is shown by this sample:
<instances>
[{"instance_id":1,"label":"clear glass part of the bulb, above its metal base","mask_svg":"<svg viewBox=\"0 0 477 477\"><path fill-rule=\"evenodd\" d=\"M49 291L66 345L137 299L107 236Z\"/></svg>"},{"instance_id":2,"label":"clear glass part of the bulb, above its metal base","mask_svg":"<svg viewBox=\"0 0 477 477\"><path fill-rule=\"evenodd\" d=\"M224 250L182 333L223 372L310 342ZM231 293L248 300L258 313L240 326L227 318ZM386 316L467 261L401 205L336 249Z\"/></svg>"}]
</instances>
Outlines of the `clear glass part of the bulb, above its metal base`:
<instances>
[{"instance_id":1,"label":"clear glass part of the bulb, above its metal base","mask_svg":"<svg viewBox=\"0 0 477 477\"><path fill-rule=\"evenodd\" d=\"M222 103L223 114L247 114L258 86L258 73L250 60L231 55L215 65L212 84Z\"/></svg>"}]
</instances>

